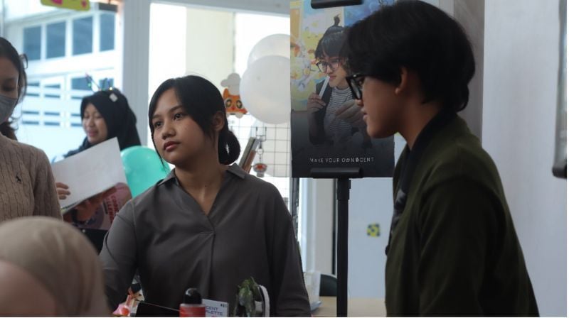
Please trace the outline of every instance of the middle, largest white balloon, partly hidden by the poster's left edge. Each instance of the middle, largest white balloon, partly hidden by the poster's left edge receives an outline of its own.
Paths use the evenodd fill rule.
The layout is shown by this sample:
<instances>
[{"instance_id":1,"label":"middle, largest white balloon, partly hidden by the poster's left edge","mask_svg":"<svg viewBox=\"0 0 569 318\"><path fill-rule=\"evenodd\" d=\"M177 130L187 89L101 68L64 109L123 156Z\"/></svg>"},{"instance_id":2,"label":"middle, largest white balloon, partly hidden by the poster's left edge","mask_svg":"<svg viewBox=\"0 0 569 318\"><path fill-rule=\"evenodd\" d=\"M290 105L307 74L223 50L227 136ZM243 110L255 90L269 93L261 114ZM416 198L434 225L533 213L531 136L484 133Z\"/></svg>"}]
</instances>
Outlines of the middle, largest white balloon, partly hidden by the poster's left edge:
<instances>
[{"instance_id":1,"label":"middle, largest white balloon, partly hidden by the poster's left edge","mask_svg":"<svg viewBox=\"0 0 569 318\"><path fill-rule=\"evenodd\" d=\"M243 106L267 124L290 120L290 60L272 55L256 60L243 73L240 85Z\"/></svg>"}]
</instances>

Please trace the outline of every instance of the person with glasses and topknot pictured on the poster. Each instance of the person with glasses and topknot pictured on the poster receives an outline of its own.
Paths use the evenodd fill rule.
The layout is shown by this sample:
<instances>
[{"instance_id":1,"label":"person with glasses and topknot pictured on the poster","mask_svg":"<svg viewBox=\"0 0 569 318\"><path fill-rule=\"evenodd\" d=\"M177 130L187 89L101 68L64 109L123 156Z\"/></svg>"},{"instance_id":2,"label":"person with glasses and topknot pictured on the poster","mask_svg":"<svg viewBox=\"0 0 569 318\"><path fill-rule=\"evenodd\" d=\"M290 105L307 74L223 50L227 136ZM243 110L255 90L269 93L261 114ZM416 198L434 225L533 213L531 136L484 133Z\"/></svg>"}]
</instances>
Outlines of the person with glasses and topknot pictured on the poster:
<instances>
[{"instance_id":1,"label":"person with glasses and topknot pictured on the poster","mask_svg":"<svg viewBox=\"0 0 569 318\"><path fill-rule=\"evenodd\" d=\"M313 145L346 149L353 134L359 132L363 141L358 146L371 148L363 114L346 81L349 72L345 58L340 56L344 27L339 23L339 16L334 16L334 25L326 30L314 51L318 70L326 77L308 97L309 139Z\"/></svg>"}]
</instances>

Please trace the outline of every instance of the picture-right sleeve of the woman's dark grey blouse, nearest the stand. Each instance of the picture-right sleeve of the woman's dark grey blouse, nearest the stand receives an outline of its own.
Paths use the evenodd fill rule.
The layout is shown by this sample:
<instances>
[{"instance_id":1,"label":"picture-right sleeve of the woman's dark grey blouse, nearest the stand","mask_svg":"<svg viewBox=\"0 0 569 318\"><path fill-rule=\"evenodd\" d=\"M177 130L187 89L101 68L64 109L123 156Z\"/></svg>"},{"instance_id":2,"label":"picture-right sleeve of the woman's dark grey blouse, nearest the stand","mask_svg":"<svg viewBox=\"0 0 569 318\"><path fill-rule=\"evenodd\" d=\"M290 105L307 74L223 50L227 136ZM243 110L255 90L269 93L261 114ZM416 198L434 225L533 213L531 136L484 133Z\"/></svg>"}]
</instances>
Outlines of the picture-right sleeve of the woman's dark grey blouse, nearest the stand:
<instances>
[{"instance_id":1,"label":"picture-right sleeve of the woman's dark grey blouse, nearest the stand","mask_svg":"<svg viewBox=\"0 0 569 318\"><path fill-rule=\"evenodd\" d=\"M274 218L270 224L270 271L273 295L270 305L277 316L310 317L310 303L298 249L292 217L278 190L272 202ZM273 309L273 308L271 308Z\"/></svg>"}]
</instances>

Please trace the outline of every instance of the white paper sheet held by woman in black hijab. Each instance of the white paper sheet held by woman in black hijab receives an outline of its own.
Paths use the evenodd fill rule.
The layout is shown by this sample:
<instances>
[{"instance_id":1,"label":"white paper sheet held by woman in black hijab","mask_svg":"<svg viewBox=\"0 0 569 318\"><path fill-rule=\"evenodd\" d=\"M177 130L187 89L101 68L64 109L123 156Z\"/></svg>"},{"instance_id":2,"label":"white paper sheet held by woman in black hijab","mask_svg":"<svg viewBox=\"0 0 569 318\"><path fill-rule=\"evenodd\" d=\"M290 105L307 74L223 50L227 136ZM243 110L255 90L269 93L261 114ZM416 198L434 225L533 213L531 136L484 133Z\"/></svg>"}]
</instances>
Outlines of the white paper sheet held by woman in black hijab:
<instances>
[{"instance_id":1,"label":"white paper sheet held by woman in black hijab","mask_svg":"<svg viewBox=\"0 0 569 318\"><path fill-rule=\"evenodd\" d=\"M109 190L119 182L127 183L117 138L53 163L51 169L55 181L68 185L71 192L65 199L59 200L62 209Z\"/></svg>"}]
</instances>

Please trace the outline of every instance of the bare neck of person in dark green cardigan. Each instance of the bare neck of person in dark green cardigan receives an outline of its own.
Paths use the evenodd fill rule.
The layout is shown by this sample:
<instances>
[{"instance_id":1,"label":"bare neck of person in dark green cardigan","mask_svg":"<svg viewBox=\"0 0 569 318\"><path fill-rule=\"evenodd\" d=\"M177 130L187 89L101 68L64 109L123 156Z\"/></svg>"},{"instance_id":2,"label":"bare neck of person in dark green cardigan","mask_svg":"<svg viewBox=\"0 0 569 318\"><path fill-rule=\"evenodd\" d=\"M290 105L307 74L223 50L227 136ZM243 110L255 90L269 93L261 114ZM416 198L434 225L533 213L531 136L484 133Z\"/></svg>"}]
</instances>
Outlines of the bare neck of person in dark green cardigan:
<instances>
[{"instance_id":1,"label":"bare neck of person in dark green cardigan","mask_svg":"<svg viewBox=\"0 0 569 318\"><path fill-rule=\"evenodd\" d=\"M407 141L407 146L409 149L413 149L417 137L429 124L437 114L442 110L442 106L439 102L427 102L425 104L415 103L413 106L408 108L405 114L405 121L400 128L399 133L405 141Z\"/></svg>"}]
</instances>

